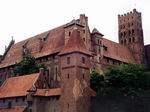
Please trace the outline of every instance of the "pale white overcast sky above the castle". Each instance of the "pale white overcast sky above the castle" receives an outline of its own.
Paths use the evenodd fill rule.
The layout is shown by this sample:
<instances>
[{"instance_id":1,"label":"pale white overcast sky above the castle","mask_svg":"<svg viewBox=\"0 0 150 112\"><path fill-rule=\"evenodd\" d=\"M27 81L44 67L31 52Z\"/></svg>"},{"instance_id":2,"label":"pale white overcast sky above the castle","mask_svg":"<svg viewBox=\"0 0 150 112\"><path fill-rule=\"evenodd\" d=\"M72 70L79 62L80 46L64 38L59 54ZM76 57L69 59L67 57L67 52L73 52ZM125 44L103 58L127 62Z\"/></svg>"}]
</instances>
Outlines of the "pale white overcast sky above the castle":
<instances>
[{"instance_id":1,"label":"pale white overcast sky above the castle","mask_svg":"<svg viewBox=\"0 0 150 112\"><path fill-rule=\"evenodd\" d=\"M145 44L150 43L150 0L0 0L0 54L14 36L16 42L77 19L89 18L106 38L118 41L118 14L142 12Z\"/></svg>"}]
</instances>

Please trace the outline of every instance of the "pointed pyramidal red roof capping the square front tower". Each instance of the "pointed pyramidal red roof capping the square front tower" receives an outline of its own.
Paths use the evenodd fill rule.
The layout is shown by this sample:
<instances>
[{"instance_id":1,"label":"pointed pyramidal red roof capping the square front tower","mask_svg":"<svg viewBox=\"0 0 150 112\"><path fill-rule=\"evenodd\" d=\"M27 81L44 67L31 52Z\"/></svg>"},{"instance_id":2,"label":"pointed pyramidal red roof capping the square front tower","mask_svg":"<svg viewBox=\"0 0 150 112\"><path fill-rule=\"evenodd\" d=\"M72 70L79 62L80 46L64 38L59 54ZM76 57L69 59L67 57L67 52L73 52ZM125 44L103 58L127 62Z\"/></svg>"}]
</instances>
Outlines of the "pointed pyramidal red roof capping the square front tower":
<instances>
[{"instance_id":1,"label":"pointed pyramidal red roof capping the square front tower","mask_svg":"<svg viewBox=\"0 0 150 112\"><path fill-rule=\"evenodd\" d=\"M68 53L72 53L72 52L80 52L80 53L84 53L87 55L91 55L91 53L87 50L87 48L80 36L80 32L77 30L76 27L73 29L73 32L72 32L67 44L65 45L63 50L59 53L59 55L64 55L64 54L68 54Z\"/></svg>"}]
</instances>

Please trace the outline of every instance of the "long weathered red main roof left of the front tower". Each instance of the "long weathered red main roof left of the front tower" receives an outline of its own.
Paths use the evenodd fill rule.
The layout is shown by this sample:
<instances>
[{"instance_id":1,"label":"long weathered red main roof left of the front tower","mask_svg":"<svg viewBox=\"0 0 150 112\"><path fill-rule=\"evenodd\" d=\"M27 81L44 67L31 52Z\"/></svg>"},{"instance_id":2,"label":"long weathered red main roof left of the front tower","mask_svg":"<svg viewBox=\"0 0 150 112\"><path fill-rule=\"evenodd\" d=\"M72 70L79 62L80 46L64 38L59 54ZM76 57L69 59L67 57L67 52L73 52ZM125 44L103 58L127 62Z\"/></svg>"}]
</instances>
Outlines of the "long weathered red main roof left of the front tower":
<instances>
[{"instance_id":1,"label":"long weathered red main roof left of the front tower","mask_svg":"<svg viewBox=\"0 0 150 112\"><path fill-rule=\"evenodd\" d=\"M38 58L61 51L64 46L64 38L64 25L62 25L13 44L7 51L4 60L0 63L0 68L14 65L19 62L22 59L23 45L25 44L26 48L31 52L31 55Z\"/></svg>"}]
</instances>

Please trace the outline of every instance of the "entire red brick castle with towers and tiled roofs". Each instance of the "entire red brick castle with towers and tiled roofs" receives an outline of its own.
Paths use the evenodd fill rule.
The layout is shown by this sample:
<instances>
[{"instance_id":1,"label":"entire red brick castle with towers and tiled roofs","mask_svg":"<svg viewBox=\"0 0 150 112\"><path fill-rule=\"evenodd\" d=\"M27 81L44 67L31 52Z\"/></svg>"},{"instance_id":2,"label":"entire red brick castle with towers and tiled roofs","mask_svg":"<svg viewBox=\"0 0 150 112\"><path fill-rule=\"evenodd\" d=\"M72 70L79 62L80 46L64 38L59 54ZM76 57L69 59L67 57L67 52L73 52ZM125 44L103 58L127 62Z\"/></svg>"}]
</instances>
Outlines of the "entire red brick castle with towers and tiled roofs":
<instances>
[{"instance_id":1,"label":"entire red brick castle with towers and tiled roofs","mask_svg":"<svg viewBox=\"0 0 150 112\"><path fill-rule=\"evenodd\" d=\"M150 64L150 45L144 46L141 13L118 15L119 43L91 32L88 17L15 43L0 56L0 112L90 112L90 70L108 66ZM16 63L32 55L47 67L40 73L11 77ZM50 86L48 86L50 85Z\"/></svg>"}]
</instances>

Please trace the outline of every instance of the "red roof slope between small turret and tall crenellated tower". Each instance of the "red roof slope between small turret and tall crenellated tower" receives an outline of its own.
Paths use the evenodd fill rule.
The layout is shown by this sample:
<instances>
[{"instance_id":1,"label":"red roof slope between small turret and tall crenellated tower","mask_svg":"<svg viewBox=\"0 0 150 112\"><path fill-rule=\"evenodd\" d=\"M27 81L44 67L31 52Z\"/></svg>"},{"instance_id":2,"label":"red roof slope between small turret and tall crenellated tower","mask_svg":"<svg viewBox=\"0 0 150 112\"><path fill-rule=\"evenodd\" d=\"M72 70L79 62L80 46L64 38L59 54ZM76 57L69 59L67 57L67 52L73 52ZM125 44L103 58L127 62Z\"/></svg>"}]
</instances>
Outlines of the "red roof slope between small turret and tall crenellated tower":
<instances>
[{"instance_id":1,"label":"red roof slope between small turret and tall crenellated tower","mask_svg":"<svg viewBox=\"0 0 150 112\"><path fill-rule=\"evenodd\" d=\"M104 56L126 63L135 62L132 53L127 47L105 38L102 38L102 43L105 47L107 47L107 51L104 50L103 52Z\"/></svg>"}]
</instances>

